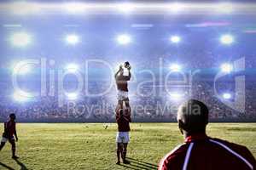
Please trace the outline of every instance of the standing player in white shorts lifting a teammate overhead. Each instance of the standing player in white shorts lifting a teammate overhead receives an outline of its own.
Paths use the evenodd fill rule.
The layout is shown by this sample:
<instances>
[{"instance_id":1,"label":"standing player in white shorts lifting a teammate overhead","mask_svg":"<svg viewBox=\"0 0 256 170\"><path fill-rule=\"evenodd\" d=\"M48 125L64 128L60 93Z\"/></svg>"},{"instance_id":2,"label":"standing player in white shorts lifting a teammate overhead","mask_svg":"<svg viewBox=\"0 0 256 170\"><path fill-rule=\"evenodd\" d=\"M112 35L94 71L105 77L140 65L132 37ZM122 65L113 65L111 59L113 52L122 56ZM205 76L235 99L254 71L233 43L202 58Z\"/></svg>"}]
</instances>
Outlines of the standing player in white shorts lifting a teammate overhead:
<instances>
[{"instance_id":1,"label":"standing player in white shorts lifting a teammate overhead","mask_svg":"<svg viewBox=\"0 0 256 170\"><path fill-rule=\"evenodd\" d=\"M118 133L116 135L117 143L117 163L120 164L120 156L123 159L123 163L129 164L130 162L126 160L127 146L130 141L129 131L130 131L130 122L131 122L131 113L130 110L125 108L121 109L120 107L116 109L116 122L118 123Z\"/></svg>"}]
</instances>

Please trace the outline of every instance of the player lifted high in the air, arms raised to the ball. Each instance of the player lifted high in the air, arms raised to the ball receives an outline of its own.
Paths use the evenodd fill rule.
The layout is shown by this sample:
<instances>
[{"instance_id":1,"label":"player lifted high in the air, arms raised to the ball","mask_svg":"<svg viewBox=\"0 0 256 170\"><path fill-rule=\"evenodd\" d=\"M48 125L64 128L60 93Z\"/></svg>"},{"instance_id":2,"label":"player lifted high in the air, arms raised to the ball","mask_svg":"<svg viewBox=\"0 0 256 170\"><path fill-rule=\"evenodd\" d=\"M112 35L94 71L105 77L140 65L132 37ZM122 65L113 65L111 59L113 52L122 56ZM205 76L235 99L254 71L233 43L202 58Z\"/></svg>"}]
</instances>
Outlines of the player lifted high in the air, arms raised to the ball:
<instances>
[{"instance_id":1,"label":"player lifted high in the air, arms raised to the ball","mask_svg":"<svg viewBox=\"0 0 256 170\"><path fill-rule=\"evenodd\" d=\"M131 65L128 61L124 64L125 69L128 70L128 75L124 75L124 68L122 65L119 66L119 71L117 71L114 75L115 81L118 89L118 106L121 109L123 108L123 104L125 102L125 107L129 110L129 98L128 98L128 81L131 79Z\"/></svg>"}]
</instances>

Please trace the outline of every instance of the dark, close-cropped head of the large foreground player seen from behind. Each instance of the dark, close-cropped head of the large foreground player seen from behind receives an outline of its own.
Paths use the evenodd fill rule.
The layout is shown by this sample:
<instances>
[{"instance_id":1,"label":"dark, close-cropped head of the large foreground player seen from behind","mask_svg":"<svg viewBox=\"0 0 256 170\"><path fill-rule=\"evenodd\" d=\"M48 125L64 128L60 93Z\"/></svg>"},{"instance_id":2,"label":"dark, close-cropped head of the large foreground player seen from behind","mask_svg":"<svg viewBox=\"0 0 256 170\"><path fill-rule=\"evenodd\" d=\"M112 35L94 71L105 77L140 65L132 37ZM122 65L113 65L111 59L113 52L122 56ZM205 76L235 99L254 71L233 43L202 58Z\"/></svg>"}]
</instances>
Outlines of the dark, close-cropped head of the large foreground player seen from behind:
<instances>
[{"instance_id":1,"label":"dark, close-cropped head of the large foreground player seen from behind","mask_svg":"<svg viewBox=\"0 0 256 170\"><path fill-rule=\"evenodd\" d=\"M181 132L205 133L208 123L208 108L207 105L196 99L180 105L177 111L177 122Z\"/></svg>"}]
</instances>

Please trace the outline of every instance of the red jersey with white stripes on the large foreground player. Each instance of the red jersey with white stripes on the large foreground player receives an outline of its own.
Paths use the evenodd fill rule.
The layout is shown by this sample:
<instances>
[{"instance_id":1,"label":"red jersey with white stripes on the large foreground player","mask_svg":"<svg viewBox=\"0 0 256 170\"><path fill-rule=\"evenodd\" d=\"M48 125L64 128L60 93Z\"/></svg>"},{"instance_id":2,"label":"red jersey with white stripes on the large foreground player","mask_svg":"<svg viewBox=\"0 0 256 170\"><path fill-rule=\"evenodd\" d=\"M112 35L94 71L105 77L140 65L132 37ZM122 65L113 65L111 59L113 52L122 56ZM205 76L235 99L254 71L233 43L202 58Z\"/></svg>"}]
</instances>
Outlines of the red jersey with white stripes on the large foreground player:
<instances>
[{"instance_id":1,"label":"red jersey with white stripes on the large foreground player","mask_svg":"<svg viewBox=\"0 0 256 170\"><path fill-rule=\"evenodd\" d=\"M186 138L160 161L159 170L167 169L255 170L256 161L245 146L197 134Z\"/></svg>"}]
</instances>

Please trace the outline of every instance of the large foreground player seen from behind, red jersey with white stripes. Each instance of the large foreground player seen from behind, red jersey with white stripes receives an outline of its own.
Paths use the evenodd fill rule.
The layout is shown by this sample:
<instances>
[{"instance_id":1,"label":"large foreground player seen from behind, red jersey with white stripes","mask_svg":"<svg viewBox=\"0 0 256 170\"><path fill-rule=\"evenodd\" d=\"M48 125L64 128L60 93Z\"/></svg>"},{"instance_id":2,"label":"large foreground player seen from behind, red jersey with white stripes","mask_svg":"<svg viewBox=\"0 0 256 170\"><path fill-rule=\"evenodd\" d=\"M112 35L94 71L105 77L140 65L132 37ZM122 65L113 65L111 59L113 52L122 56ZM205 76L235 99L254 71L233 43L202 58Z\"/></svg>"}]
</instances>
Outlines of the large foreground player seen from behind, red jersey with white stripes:
<instances>
[{"instance_id":1,"label":"large foreground player seen from behind, red jersey with white stripes","mask_svg":"<svg viewBox=\"0 0 256 170\"><path fill-rule=\"evenodd\" d=\"M208 108L201 101L190 99L181 105L177 122L184 144L160 161L159 170L256 169L256 161L245 146L207 136Z\"/></svg>"}]
</instances>

